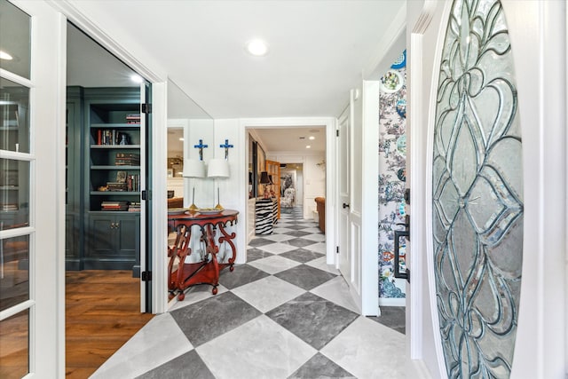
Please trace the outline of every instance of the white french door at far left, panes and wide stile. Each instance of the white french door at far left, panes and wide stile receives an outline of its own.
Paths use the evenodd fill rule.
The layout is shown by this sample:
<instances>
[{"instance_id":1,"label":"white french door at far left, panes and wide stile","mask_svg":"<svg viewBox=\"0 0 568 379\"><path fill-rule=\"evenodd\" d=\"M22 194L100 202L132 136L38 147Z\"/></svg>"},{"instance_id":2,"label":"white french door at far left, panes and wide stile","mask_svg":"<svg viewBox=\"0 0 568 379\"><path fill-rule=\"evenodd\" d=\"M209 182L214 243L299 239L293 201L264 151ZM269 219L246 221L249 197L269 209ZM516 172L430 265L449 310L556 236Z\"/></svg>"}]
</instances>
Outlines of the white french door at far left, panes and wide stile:
<instances>
[{"instance_id":1,"label":"white french door at far left, panes and wide stile","mask_svg":"<svg viewBox=\"0 0 568 379\"><path fill-rule=\"evenodd\" d=\"M66 20L16 0L0 20L0 376L63 377Z\"/></svg>"}]
</instances>

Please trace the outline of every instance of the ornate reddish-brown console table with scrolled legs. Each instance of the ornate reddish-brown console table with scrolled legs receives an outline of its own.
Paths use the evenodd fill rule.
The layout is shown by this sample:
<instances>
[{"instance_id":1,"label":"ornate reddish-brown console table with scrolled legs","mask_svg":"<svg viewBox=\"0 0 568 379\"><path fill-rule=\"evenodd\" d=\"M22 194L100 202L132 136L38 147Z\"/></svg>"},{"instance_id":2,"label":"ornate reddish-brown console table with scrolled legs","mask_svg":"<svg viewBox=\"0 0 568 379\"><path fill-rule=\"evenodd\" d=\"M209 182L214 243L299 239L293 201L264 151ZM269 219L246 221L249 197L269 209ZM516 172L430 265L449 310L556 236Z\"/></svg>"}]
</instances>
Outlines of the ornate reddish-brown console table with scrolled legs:
<instances>
[{"instance_id":1,"label":"ornate reddish-brown console table with scrolled legs","mask_svg":"<svg viewBox=\"0 0 568 379\"><path fill-rule=\"evenodd\" d=\"M184 300L185 288L196 284L210 284L213 286L211 293L217 294L217 286L219 285L219 272L229 266L229 270L233 271L233 264L236 257L236 249L233 243L235 233L227 233L226 227L237 223L237 215L239 211L233 209L225 209L216 214L182 213L177 215L168 215L168 227L176 232L176 242L173 247L168 248L168 289L170 290L170 299L176 296L177 299ZM192 230L201 231L199 242L205 247L201 252L202 255L198 262L185 263L185 258L192 254ZM217 238L217 232L220 234ZM231 257L226 262L219 263L217 261L217 253L219 247L226 244L231 249ZM177 262L177 270L175 261Z\"/></svg>"}]
</instances>

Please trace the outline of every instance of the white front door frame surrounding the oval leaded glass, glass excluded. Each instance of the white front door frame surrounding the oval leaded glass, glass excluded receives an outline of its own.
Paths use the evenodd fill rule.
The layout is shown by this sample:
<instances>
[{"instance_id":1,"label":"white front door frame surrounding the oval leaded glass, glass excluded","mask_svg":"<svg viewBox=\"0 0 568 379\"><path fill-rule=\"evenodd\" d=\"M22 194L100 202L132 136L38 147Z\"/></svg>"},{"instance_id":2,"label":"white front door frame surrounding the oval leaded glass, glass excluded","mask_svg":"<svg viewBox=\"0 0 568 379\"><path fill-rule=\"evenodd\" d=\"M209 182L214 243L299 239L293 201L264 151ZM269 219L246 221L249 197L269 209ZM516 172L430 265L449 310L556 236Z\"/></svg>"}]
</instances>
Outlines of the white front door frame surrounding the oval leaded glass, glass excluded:
<instances>
[{"instance_id":1,"label":"white front door frame surrounding the oval leaded glass, glass excluded","mask_svg":"<svg viewBox=\"0 0 568 379\"><path fill-rule=\"evenodd\" d=\"M412 141L409 255L412 284L406 336L410 347L409 373L412 377L425 378L445 373L437 342L436 302L431 296L435 293L431 262L427 268L424 254L431 260L428 238L431 235L428 205L431 157L428 155L431 151L434 105L428 101L436 93L439 46L443 43L452 2L410 3L408 20L414 23L408 38L411 43L408 56L412 81L409 85L408 114ZM523 281L511 377L564 377L568 361L565 284L568 250L565 217L568 211L568 142L565 129L568 11L564 2L501 0L501 4L509 26L515 62L518 116L524 142ZM432 33L437 35L437 42L432 41ZM434 54L431 52L433 43L438 46ZM429 251L424 253L424 247Z\"/></svg>"}]
</instances>

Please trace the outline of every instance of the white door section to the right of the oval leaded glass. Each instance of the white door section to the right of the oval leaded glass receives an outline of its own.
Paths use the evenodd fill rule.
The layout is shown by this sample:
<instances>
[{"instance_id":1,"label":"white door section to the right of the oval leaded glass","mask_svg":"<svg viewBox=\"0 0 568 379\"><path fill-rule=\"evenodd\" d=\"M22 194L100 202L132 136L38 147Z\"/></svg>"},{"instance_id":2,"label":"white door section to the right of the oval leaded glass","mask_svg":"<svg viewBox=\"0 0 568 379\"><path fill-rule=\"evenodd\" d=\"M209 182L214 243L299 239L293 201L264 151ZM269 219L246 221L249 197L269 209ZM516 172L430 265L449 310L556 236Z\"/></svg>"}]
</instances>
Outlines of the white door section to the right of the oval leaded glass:
<instances>
[{"instance_id":1,"label":"white door section to the right of the oval leaded glass","mask_svg":"<svg viewBox=\"0 0 568 379\"><path fill-rule=\"evenodd\" d=\"M566 299L566 217L555 211L565 209L566 201L565 3L501 4L517 73L525 199L523 280L511 378L556 378L566 370L565 308L558 305Z\"/></svg>"}]
</instances>

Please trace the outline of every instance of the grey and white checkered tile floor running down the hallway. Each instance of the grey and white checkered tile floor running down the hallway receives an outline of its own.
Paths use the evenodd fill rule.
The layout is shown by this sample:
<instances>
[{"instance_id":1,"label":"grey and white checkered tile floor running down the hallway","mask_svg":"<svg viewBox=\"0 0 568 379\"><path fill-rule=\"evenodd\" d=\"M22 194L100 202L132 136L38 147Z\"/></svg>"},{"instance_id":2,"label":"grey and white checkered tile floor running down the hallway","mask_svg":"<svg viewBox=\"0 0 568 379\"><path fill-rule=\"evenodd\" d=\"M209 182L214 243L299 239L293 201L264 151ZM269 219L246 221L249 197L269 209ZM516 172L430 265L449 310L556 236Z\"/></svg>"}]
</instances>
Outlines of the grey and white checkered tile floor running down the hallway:
<instances>
[{"instance_id":1,"label":"grey and white checkered tile floor running down the hallway","mask_svg":"<svg viewBox=\"0 0 568 379\"><path fill-rule=\"evenodd\" d=\"M356 313L317 224L293 209L274 232L222 272L217 296L191 288L91 377L404 378L405 336Z\"/></svg>"}]
</instances>

